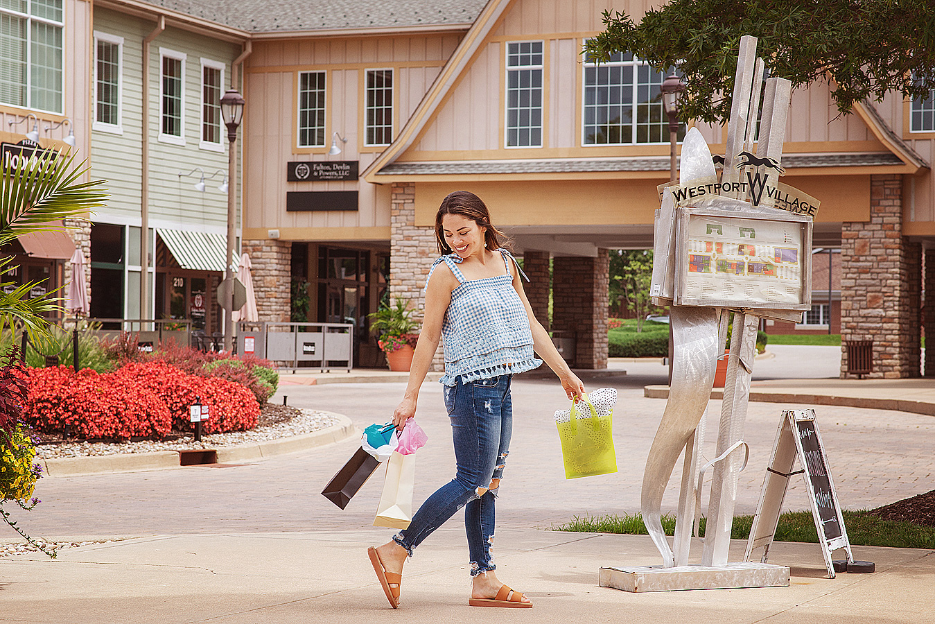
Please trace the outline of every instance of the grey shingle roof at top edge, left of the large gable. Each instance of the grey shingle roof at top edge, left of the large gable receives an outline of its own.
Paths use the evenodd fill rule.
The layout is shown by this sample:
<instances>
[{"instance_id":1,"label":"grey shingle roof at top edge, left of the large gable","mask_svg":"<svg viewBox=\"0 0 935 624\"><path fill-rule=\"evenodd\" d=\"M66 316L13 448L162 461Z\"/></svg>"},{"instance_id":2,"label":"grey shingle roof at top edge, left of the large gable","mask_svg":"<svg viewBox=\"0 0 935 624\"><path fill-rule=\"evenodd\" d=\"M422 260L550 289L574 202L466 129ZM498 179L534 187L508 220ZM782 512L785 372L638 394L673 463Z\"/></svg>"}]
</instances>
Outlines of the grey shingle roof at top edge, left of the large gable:
<instances>
[{"instance_id":1,"label":"grey shingle roof at top edge, left of the large gable","mask_svg":"<svg viewBox=\"0 0 935 624\"><path fill-rule=\"evenodd\" d=\"M145 0L254 33L472 23L486 0Z\"/></svg>"}]
</instances>

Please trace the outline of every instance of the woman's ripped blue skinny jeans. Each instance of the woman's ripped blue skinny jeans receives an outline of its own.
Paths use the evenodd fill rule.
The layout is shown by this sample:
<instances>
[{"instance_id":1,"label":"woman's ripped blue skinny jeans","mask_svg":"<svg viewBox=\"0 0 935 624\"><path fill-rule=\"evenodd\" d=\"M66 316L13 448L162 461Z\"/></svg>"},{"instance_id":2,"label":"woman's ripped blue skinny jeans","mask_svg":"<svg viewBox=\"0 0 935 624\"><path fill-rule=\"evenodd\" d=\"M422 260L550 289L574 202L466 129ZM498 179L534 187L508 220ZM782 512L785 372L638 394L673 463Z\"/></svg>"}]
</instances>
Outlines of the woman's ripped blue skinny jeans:
<instances>
[{"instance_id":1,"label":"woman's ripped blue skinny jeans","mask_svg":"<svg viewBox=\"0 0 935 624\"><path fill-rule=\"evenodd\" d=\"M499 480L510 453L513 428L511 375L444 386L445 407L452 421L457 472L439 487L412 516L409 529L394 541L412 556L412 550L462 507L471 576L496 569L491 556Z\"/></svg>"}]
</instances>

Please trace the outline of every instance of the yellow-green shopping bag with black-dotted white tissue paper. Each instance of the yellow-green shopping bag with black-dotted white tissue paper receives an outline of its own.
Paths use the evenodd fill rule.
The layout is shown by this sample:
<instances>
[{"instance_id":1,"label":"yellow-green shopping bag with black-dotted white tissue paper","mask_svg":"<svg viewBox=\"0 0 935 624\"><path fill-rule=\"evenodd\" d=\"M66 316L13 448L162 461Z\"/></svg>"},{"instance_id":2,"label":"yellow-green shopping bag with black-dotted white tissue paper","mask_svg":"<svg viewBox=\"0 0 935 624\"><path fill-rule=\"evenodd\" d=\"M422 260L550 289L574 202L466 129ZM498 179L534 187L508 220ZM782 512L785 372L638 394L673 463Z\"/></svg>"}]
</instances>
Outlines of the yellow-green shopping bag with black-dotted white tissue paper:
<instances>
[{"instance_id":1,"label":"yellow-green shopping bag with black-dotted white tissue paper","mask_svg":"<svg viewBox=\"0 0 935 624\"><path fill-rule=\"evenodd\" d=\"M610 388L609 388L610 390ZM562 457L565 460L565 478L611 474L617 472L617 455L613 450L611 421L613 416L612 400L610 404L597 409L592 398L599 391L591 393L591 398L582 395L582 399L571 405L571 410L555 412L555 425L558 437L562 441ZM616 393L613 393L616 400ZM587 405L588 413L580 414L579 406Z\"/></svg>"}]
</instances>

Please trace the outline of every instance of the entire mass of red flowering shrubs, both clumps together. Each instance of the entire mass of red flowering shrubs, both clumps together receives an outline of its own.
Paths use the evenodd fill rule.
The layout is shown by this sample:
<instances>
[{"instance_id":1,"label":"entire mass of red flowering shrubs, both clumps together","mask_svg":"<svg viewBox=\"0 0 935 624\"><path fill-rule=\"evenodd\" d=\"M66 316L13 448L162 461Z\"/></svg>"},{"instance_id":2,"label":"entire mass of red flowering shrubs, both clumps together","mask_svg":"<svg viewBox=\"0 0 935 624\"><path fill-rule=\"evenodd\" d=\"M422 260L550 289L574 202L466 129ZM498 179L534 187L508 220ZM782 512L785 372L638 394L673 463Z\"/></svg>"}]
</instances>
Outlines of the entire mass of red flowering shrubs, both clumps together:
<instances>
[{"instance_id":1,"label":"entire mass of red flowering shrubs, both clumps together","mask_svg":"<svg viewBox=\"0 0 935 624\"><path fill-rule=\"evenodd\" d=\"M79 438L161 438L173 426L191 428L189 408L198 398L209 406L209 420L202 423L206 433L256 427L260 406L249 389L165 362L134 362L105 374L32 369L23 419L42 432L68 424Z\"/></svg>"}]
</instances>

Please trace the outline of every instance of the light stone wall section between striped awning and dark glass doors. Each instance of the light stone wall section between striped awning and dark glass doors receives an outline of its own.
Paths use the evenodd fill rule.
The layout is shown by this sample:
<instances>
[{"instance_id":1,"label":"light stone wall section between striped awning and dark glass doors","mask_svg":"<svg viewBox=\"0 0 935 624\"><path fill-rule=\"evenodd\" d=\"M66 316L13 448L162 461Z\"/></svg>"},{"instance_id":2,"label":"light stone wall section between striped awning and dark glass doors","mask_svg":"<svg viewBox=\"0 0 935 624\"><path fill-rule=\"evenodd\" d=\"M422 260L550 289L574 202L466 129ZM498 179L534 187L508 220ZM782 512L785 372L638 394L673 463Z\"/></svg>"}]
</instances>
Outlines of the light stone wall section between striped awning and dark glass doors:
<instances>
[{"instance_id":1,"label":"light stone wall section between striped awning and dark glass doors","mask_svg":"<svg viewBox=\"0 0 935 624\"><path fill-rule=\"evenodd\" d=\"M288 323L292 307L292 243L278 239L244 240L242 253L250 255L260 320Z\"/></svg>"}]
</instances>

